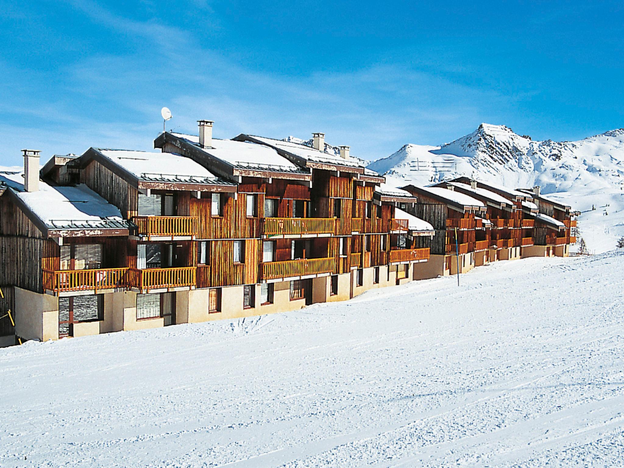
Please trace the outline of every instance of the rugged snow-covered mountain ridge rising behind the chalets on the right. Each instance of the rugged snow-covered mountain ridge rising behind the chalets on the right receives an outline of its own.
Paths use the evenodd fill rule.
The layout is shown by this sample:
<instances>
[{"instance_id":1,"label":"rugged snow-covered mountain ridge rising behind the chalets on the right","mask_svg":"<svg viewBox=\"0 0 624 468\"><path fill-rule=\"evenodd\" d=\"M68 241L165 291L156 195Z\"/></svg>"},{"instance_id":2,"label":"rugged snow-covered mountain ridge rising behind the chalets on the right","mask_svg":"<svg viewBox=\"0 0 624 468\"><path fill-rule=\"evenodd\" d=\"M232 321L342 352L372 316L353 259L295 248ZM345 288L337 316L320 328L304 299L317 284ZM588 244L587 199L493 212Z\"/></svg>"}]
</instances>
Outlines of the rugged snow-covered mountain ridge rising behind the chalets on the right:
<instances>
[{"instance_id":1,"label":"rugged snow-covered mountain ridge rising behind the chalets on the right","mask_svg":"<svg viewBox=\"0 0 624 468\"><path fill-rule=\"evenodd\" d=\"M624 129L576 142L534 141L505 125L481 124L437 147L404 145L369 168L391 185L420 185L466 175L544 193L616 188L624 181Z\"/></svg>"}]
</instances>

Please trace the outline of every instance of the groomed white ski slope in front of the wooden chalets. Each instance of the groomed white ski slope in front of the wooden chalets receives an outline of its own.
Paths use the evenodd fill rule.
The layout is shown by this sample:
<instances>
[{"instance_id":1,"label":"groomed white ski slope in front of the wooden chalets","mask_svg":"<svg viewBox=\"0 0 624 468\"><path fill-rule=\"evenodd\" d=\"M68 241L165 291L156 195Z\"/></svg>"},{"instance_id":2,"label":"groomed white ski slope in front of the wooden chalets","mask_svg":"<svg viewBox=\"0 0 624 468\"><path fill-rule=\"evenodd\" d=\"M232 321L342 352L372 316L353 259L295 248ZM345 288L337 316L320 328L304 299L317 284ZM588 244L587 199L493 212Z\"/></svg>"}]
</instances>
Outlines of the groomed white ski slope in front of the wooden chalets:
<instances>
[{"instance_id":1,"label":"groomed white ski slope in front of the wooden chalets","mask_svg":"<svg viewBox=\"0 0 624 468\"><path fill-rule=\"evenodd\" d=\"M1 349L0 466L621 466L623 276L618 253L501 261Z\"/></svg>"}]
</instances>

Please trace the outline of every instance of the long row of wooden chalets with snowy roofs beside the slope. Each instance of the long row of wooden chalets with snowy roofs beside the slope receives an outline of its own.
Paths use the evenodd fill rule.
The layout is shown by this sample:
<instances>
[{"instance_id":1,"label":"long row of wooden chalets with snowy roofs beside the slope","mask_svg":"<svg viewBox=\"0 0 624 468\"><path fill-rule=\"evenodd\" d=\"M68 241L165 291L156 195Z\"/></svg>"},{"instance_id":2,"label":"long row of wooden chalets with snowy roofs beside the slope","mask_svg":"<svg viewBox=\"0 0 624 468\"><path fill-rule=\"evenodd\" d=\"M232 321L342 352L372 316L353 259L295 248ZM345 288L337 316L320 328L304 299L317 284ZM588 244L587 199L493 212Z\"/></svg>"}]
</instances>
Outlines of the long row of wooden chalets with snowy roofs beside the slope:
<instances>
[{"instance_id":1,"label":"long row of wooden chalets with snowy roofs beside the slope","mask_svg":"<svg viewBox=\"0 0 624 468\"><path fill-rule=\"evenodd\" d=\"M0 345L297 310L575 242L577 212L537 188L392 187L320 132L220 140L213 123L0 172Z\"/></svg>"}]
</instances>

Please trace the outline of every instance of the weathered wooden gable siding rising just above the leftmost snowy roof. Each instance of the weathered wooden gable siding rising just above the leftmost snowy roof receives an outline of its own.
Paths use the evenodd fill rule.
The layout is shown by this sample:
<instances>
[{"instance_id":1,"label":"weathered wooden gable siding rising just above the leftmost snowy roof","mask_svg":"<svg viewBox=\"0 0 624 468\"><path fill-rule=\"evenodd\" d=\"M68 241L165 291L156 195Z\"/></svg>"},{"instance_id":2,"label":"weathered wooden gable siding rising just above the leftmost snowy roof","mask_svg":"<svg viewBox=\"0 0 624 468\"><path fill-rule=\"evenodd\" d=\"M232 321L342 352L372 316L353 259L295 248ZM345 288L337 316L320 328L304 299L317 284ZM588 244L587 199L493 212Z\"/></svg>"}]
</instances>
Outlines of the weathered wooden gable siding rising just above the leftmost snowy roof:
<instances>
[{"instance_id":1,"label":"weathered wooden gable siding rising just above the leftmost snowy roof","mask_svg":"<svg viewBox=\"0 0 624 468\"><path fill-rule=\"evenodd\" d=\"M139 214L139 189L99 162L91 161L80 171L80 182L119 208L125 219Z\"/></svg>"}]
</instances>

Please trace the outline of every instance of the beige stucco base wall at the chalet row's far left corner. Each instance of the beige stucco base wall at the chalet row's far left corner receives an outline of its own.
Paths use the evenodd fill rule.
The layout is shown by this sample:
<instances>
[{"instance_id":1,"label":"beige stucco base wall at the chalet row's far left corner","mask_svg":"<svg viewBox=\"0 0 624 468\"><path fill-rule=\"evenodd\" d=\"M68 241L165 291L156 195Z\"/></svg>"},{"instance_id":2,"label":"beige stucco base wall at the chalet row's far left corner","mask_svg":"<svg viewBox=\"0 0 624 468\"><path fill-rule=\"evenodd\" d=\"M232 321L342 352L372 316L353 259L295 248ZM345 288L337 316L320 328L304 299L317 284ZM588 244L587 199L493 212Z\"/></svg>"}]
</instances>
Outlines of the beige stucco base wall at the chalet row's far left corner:
<instances>
[{"instance_id":1,"label":"beige stucco base wall at the chalet row's far left corner","mask_svg":"<svg viewBox=\"0 0 624 468\"><path fill-rule=\"evenodd\" d=\"M24 339L59 339L59 299L15 289L15 334Z\"/></svg>"}]
</instances>

